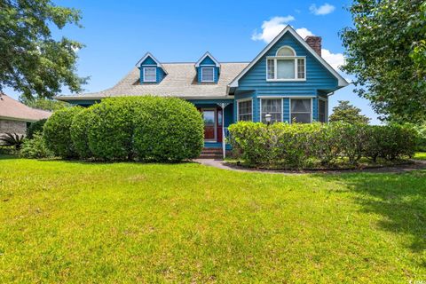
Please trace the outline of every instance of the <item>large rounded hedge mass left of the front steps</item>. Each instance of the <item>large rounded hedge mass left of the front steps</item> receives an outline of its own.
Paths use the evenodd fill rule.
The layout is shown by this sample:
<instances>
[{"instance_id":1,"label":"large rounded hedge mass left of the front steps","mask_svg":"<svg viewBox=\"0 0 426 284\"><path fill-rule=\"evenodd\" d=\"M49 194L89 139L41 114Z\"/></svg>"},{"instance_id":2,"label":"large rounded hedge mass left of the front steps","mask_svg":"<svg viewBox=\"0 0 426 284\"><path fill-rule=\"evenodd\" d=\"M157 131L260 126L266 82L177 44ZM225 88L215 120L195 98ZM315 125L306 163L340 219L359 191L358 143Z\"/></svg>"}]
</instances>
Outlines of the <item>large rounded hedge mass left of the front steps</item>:
<instances>
[{"instance_id":1,"label":"large rounded hedge mass left of the front steps","mask_svg":"<svg viewBox=\"0 0 426 284\"><path fill-rule=\"evenodd\" d=\"M179 162L201 154L201 114L182 99L121 97L53 114L44 126L63 158ZM56 135L57 134L57 135Z\"/></svg>"}]
</instances>

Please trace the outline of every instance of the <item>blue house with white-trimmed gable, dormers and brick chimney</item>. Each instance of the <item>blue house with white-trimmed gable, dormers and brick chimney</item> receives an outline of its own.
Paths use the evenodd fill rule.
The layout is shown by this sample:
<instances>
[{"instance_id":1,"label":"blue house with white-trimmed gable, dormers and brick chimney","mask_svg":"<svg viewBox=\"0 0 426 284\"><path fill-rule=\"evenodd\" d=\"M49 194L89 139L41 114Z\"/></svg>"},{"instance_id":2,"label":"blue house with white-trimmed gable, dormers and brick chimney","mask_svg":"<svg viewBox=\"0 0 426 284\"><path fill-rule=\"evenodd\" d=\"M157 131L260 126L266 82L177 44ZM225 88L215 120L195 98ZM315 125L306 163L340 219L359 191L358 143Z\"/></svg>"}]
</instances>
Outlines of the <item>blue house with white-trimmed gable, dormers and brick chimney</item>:
<instances>
[{"instance_id":1,"label":"blue house with white-trimmed gable, dormers and brick chimney","mask_svg":"<svg viewBox=\"0 0 426 284\"><path fill-rule=\"evenodd\" d=\"M327 100L348 83L321 58L321 38L304 40L287 26L251 62L162 63L151 53L106 91L56 99L89 106L100 99L151 94L192 102L204 117L205 146L221 146L237 121L327 122Z\"/></svg>"}]
</instances>

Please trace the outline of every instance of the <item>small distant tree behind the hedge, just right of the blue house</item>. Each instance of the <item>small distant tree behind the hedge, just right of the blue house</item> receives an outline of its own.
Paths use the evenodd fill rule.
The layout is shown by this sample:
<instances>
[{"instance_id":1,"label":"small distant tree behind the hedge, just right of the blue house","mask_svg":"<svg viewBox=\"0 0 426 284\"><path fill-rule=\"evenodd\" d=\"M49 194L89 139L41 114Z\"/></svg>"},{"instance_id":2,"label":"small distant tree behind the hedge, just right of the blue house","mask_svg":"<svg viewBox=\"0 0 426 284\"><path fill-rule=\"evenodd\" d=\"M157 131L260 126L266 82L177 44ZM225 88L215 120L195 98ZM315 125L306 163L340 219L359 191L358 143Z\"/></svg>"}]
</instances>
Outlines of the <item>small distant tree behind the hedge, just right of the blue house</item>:
<instances>
[{"instance_id":1,"label":"small distant tree behind the hedge, just right of the blue house","mask_svg":"<svg viewBox=\"0 0 426 284\"><path fill-rule=\"evenodd\" d=\"M333 107L333 114L330 115L329 122L348 122L348 123L364 123L367 124L370 119L361 113L361 110L352 106L349 100L339 100L339 105Z\"/></svg>"}]
</instances>

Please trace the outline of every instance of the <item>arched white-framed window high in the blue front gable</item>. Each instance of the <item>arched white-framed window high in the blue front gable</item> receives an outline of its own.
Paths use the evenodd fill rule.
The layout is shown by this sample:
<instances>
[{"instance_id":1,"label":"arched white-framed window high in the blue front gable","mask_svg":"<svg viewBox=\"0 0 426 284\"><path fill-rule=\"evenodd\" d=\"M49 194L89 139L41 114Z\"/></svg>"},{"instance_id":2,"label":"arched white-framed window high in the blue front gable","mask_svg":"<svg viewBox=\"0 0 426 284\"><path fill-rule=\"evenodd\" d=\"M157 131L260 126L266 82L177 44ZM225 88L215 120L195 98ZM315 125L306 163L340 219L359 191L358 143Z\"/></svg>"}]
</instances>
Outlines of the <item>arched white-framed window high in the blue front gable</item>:
<instances>
[{"instance_id":1,"label":"arched white-framed window high in the blue front gable","mask_svg":"<svg viewBox=\"0 0 426 284\"><path fill-rule=\"evenodd\" d=\"M267 81L304 81L306 60L297 56L290 46L281 47L275 54L266 58Z\"/></svg>"}]
</instances>

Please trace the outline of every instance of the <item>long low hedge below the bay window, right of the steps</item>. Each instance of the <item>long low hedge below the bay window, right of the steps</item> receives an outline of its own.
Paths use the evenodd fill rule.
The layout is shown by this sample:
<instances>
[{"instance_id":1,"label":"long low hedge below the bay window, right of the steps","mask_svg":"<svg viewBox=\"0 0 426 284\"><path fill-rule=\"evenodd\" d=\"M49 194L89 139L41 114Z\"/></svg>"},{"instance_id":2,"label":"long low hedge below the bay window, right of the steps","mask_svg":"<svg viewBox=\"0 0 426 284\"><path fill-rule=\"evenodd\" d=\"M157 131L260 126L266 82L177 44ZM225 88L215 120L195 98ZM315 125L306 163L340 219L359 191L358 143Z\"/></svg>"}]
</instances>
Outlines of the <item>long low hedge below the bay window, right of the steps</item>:
<instances>
[{"instance_id":1,"label":"long low hedge below the bay window, right of the steps","mask_svg":"<svg viewBox=\"0 0 426 284\"><path fill-rule=\"evenodd\" d=\"M397 124L238 122L229 131L237 157L248 164L296 169L338 159L356 164L362 157L393 161L412 156L417 139L412 127Z\"/></svg>"}]
</instances>

